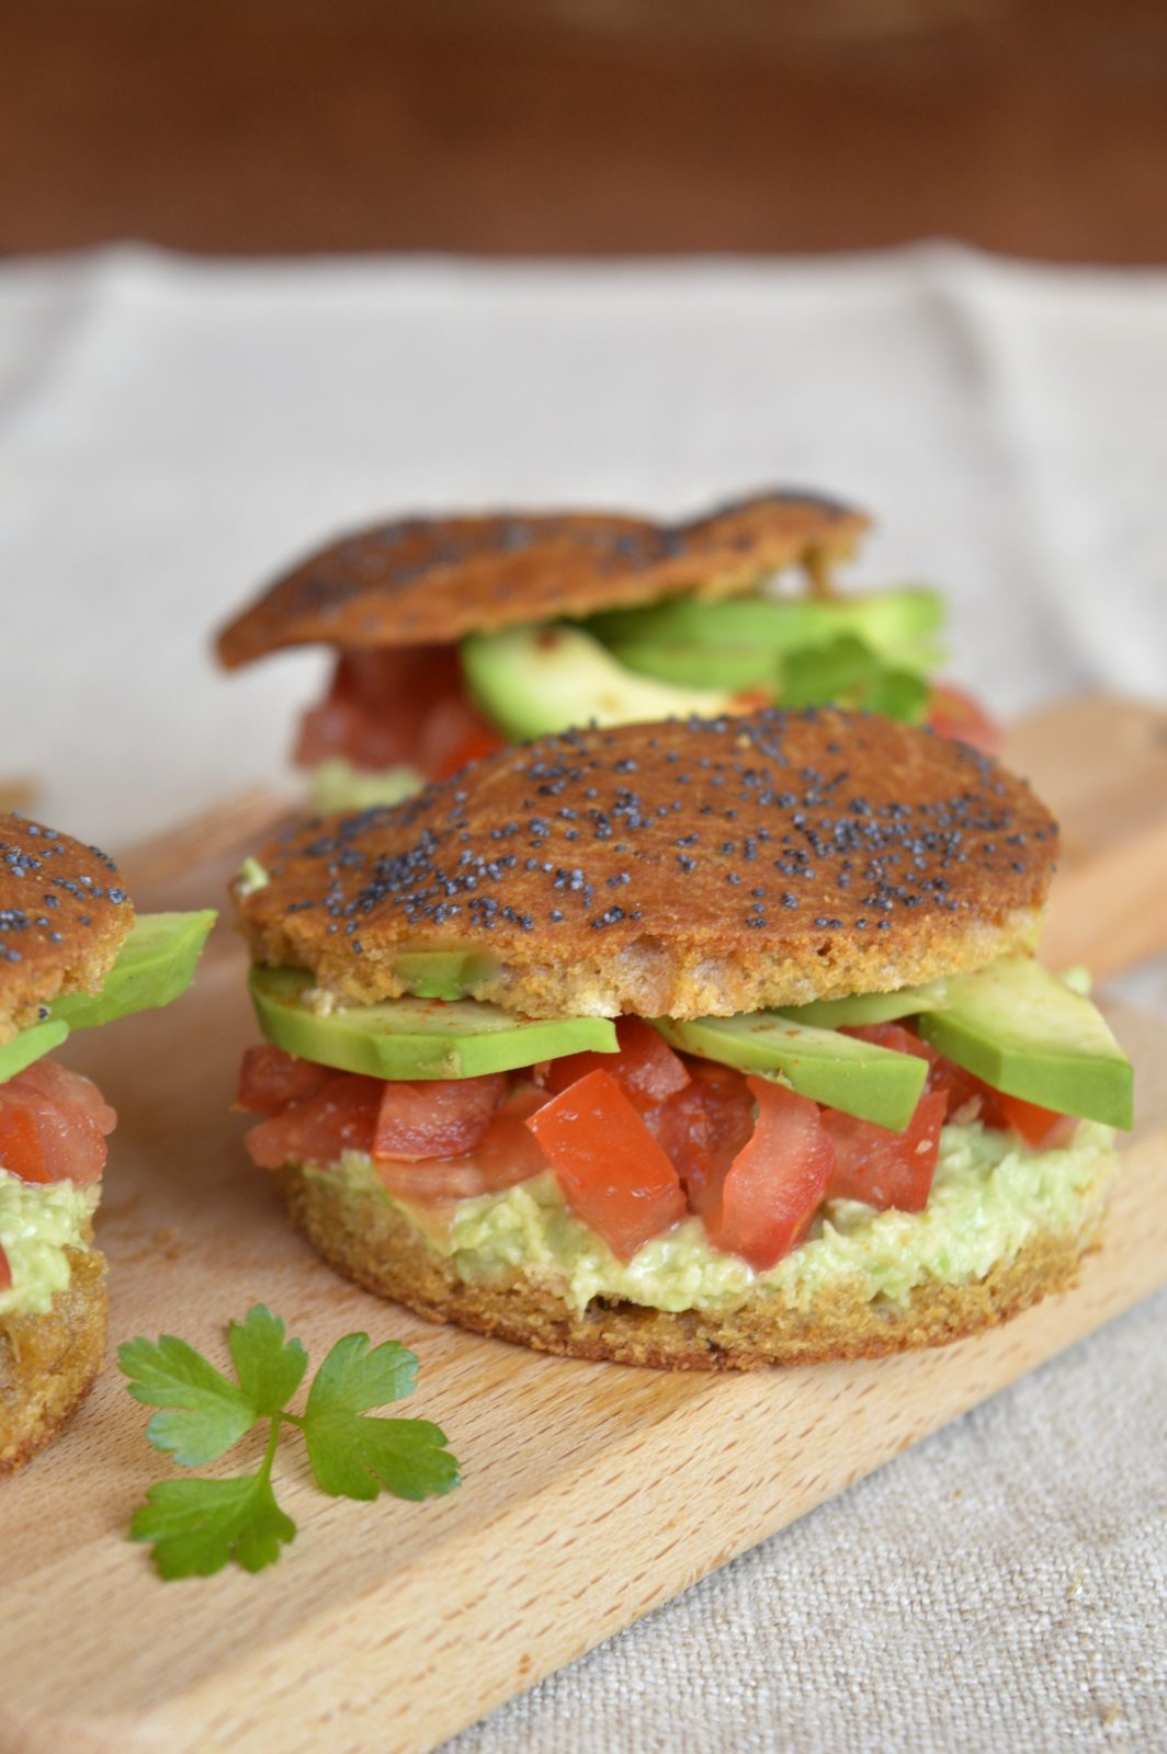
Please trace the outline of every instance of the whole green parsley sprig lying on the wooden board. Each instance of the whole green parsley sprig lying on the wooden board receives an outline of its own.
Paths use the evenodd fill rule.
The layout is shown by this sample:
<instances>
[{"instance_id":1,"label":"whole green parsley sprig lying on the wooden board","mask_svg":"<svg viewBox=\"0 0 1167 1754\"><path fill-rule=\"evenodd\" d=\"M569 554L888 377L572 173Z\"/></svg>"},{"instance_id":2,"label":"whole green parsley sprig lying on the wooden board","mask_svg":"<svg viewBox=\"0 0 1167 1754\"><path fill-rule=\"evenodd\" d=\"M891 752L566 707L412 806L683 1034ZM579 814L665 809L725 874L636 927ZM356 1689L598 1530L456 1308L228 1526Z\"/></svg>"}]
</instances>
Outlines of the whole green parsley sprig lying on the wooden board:
<instances>
[{"instance_id":1,"label":"whole green parsley sprig lying on the wooden board","mask_svg":"<svg viewBox=\"0 0 1167 1754\"><path fill-rule=\"evenodd\" d=\"M160 1480L149 1487L130 1537L153 1542L161 1577L209 1577L230 1559L261 1572L279 1559L297 1533L272 1489L284 1426L300 1431L316 1484L333 1496L372 1500L388 1491L419 1500L458 1484L446 1435L428 1419L369 1417L370 1408L412 1394L418 1359L398 1340L372 1349L367 1333L337 1340L312 1379L302 1414L288 1412L288 1401L304 1382L309 1359L298 1340L284 1338L279 1316L256 1303L230 1324L226 1344L233 1382L170 1333L160 1340L128 1340L118 1349L133 1400L161 1408L146 1437L184 1468L218 1461L256 1424L270 1421L254 1473Z\"/></svg>"}]
</instances>

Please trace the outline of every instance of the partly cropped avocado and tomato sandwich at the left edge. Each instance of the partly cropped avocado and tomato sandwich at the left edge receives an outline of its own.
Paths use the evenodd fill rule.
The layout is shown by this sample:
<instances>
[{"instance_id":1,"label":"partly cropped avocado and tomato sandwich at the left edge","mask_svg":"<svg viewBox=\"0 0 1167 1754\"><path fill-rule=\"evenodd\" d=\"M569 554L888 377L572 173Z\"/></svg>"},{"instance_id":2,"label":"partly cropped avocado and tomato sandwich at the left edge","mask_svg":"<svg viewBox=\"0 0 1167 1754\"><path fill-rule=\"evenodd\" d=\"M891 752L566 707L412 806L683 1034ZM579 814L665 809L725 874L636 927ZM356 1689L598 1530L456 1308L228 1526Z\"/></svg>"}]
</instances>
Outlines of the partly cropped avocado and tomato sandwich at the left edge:
<instances>
[{"instance_id":1,"label":"partly cropped avocado and tomato sandwich at the left edge","mask_svg":"<svg viewBox=\"0 0 1167 1754\"><path fill-rule=\"evenodd\" d=\"M104 852L0 814L0 1473L53 1442L105 1351L93 1214L118 1116L47 1056L177 998L214 917L135 917Z\"/></svg>"}]
</instances>

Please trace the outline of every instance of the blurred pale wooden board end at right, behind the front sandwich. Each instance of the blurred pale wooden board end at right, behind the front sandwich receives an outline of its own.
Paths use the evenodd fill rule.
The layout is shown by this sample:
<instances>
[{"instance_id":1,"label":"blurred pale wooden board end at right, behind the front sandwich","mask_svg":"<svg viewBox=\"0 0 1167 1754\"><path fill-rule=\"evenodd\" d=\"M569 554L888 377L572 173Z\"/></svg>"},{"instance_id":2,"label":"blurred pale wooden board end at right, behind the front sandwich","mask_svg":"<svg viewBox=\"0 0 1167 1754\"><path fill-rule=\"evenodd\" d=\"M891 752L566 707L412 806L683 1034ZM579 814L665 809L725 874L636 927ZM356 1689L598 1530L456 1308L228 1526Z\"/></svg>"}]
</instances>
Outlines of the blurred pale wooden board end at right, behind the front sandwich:
<instances>
[{"instance_id":1,"label":"blurred pale wooden board end at right, behind the front sandwich","mask_svg":"<svg viewBox=\"0 0 1167 1754\"><path fill-rule=\"evenodd\" d=\"M1167 710L1056 702L1009 728L1004 759L1062 824L1046 959L1104 980L1167 951Z\"/></svg>"}]
</instances>

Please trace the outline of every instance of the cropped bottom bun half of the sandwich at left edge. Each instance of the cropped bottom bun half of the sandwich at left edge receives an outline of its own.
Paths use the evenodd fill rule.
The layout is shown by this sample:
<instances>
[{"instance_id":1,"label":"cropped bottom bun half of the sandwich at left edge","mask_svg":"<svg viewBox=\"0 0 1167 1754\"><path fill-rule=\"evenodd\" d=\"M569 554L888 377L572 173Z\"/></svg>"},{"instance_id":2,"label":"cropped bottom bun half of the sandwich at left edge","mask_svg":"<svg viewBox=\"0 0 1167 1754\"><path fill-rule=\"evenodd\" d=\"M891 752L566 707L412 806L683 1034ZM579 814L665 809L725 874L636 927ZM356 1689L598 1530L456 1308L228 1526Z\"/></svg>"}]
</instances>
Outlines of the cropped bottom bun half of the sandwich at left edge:
<instances>
[{"instance_id":1,"label":"cropped bottom bun half of the sandwich at left edge","mask_svg":"<svg viewBox=\"0 0 1167 1754\"><path fill-rule=\"evenodd\" d=\"M46 1316L0 1316L0 1473L68 1424L105 1356L105 1256L68 1249L70 1279Z\"/></svg>"}]
</instances>

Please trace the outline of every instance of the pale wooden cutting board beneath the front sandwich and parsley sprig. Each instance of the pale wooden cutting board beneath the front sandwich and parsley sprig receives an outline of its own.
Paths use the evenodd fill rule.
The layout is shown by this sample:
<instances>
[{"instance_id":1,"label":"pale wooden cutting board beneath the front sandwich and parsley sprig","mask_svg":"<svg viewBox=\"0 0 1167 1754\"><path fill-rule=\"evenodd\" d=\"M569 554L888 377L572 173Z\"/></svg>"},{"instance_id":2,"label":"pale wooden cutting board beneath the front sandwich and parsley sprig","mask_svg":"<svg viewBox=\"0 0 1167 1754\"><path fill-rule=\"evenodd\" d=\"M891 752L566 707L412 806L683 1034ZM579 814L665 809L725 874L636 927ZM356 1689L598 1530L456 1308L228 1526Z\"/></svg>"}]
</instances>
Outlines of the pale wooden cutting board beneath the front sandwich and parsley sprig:
<instances>
[{"instance_id":1,"label":"pale wooden cutting board beneath the front sandwich and parsley sprig","mask_svg":"<svg viewBox=\"0 0 1167 1754\"><path fill-rule=\"evenodd\" d=\"M1083 733L1086 754L1104 723L1116 735L1113 709ZM1037 774L1042 749L1074 744L1055 726L1030 749ZM1158 745L1137 751L1148 819L1163 802ZM1083 761L1060 775L1070 803ZM1049 772L1039 784L1053 791ZM1118 789L1111 766L1079 805L1106 858ZM125 861L139 900L214 900L283 809L237 800L139 849ZM1070 875L1090 835L1081 863L1078 845ZM1067 935L1095 931L1063 917ZM1058 940L1056 954L1079 952ZM432 1749L1167 1280L1167 1024L1123 1012L1139 1128L1107 1244L1078 1291L997 1333L879 1363L669 1377L432 1328L335 1279L247 1165L246 1123L226 1109L253 1038L242 979L219 930L188 1000L65 1052L121 1114L102 1207L111 1337L181 1331L223 1359L226 1321L263 1300L314 1359L353 1328L400 1338L421 1356L407 1410L446 1428L465 1484L432 1505L333 1501L288 1445L277 1491L300 1533L279 1566L163 1586L125 1529L168 1465L107 1370L65 1438L0 1487L0 1754ZM242 1445L221 1472L246 1465Z\"/></svg>"}]
</instances>

